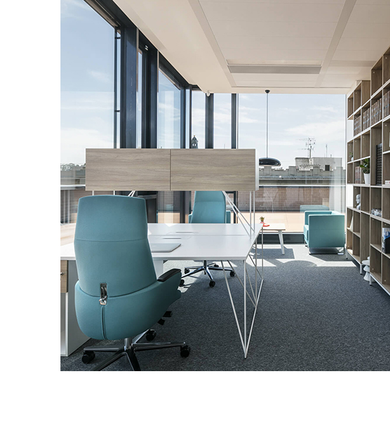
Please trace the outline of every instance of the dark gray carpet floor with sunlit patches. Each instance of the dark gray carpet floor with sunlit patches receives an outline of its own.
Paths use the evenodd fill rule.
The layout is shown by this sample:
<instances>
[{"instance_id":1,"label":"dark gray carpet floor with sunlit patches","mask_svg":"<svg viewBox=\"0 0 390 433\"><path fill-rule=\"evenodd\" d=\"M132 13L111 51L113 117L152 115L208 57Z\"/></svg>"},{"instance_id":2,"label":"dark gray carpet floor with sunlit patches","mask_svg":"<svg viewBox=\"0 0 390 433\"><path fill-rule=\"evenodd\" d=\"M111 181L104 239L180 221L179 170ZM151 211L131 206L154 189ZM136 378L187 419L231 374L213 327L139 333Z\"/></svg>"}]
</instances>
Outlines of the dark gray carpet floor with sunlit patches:
<instances>
[{"instance_id":1,"label":"dark gray carpet floor with sunlit patches","mask_svg":"<svg viewBox=\"0 0 390 433\"><path fill-rule=\"evenodd\" d=\"M185 341L190 356L182 358L178 348L138 352L141 370L390 371L390 296L363 280L345 256L309 255L304 245L285 245L285 252L264 245L264 284L246 359L225 277L214 271L213 288L207 276L186 278L172 318L154 326L156 342ZM164 270L197 264L168 262ZM242 279L242 264L233 267ZM228 278L241 323L243 289L237 277ZM84 346L95 344L113 342ZM82 364L82 347L60 359L61 371L88 371L108 356L96 353L91 364ZM130 370L122 357L104 371Z\"/></svg>"}]
</instances>

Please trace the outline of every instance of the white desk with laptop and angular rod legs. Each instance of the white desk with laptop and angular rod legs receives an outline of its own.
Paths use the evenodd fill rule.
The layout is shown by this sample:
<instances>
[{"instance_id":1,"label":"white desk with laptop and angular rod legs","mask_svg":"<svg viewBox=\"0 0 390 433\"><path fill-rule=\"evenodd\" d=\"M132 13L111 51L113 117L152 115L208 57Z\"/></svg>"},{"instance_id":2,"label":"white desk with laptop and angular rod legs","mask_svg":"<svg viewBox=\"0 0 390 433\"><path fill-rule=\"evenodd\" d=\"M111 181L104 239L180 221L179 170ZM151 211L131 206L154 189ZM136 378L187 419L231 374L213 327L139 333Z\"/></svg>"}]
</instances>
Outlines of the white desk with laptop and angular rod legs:
<instances>
[{"instance_id":1,"label":"white desk with laptop and angular rod legs","mask_svg":"<svg viewBox=\"0 0 390 433\"><path fill-rule=\"evenodd\" d=\"M249 229L248 229L249 230ZM253 331L255 314L263 283L262 272L257 267L257 236L262 231L262 224L256 224L254 231L246 232L241 224L148 224L148 239L150 243L181 243L180 247L172 252L152 253L156 274L163 274L163 263L167 260L211 260L220 261L225 274L225 282L233 307L234 317L238 327L238 333L246 357ZM255 245L255 254L252 252ZM254 283L250 282L250 290L246 290L246 278L249 278L246 261L250 259L255 266ZM61 247L61 260L76 260L73 243ZM244 289L244 320L243 328L240 326L236 314L236 307L233 301L229 280L225 271L224 261L242 260L244 272L242 279L236 274ZM230 263L229 263L230 265ZM260 278L257 278L259 276ZM258 287L260 282L260 287ZM249 333L246 329L246 298L249 297L253 304L253 318ZM76 319L76 318L75 318Z\"/></svg>"}]
</instances>

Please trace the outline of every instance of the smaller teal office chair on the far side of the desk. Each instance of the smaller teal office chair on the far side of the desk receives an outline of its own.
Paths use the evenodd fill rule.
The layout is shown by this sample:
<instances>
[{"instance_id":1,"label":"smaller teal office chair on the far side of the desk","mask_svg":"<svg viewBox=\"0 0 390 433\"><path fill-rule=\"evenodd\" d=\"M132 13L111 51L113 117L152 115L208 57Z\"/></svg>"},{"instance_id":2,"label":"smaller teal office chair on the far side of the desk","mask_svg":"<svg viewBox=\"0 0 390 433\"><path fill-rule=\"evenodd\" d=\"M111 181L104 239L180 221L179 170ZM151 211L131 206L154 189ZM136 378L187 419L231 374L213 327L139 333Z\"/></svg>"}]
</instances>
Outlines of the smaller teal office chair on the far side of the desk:
<instances>
[{"instance_id":1,"label":"smaller teal office chair on the far side of the desk","mask_svg":"<svg viewBox=\"0 0 390 433\"><path fill-rule=\"evenodd\" d=\"M222 191L195 191L194 208L192 214L188 216L189 223L230 223L231 214L226 210L226 199ZM190 269L195 269L190 271ZM222 271L216 263L207 265L207 260L203 260L203 265L200 267L186 267L184 269L185 276L190 276L203 271L209 276L209 286L216 285L215 280L211 276L210 270ZM231 268L225 268L230 271L230 276L235 276L235 272Z\"/></svg>"}]
</instances>

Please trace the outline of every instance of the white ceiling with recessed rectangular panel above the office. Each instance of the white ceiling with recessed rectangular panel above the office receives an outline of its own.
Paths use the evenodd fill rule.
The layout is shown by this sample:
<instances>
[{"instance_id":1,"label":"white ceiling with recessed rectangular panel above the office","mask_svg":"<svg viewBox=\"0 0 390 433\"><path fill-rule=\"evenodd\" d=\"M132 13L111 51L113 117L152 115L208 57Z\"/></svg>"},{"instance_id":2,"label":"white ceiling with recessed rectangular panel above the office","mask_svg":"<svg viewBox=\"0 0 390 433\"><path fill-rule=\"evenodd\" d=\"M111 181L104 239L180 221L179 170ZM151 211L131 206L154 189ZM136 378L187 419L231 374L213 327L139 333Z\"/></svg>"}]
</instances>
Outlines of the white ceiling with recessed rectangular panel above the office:
<instances>
[{"instance_id":1,"label":"white ceiling with recessed rectangular panel above the office","mask_svg":"<svg viewBox=\"0 0 390 433\"><path fill-rule=\"evenodd\" d=\"M390 46L390 0L114 0L211 93L349 93Z\"/></svg>"}]
</instances>

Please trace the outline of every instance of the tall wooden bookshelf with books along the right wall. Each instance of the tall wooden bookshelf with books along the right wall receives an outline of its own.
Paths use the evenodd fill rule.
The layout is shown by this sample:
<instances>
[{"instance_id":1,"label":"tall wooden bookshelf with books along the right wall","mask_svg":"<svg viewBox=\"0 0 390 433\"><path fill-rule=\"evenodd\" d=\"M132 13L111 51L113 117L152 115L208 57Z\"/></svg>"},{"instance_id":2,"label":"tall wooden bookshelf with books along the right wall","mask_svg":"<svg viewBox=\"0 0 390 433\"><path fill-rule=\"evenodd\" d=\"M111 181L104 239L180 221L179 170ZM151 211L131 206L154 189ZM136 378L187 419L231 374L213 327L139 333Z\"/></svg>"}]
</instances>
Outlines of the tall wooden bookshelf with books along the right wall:
<instances>
[{"instance_id":1,"label":"tall wooden bookshelf with books along the right wall","mask_svg":"<svg viewBox=\"0 0 390 433\"><path fill-rule=\"evenodd\" d=\"M390 227L390 47L347 96L347 252L360 265L370 258L370 274L390 295L390 254L382 249L382 229ZM359 166L369 158L369 183ZM360 206L356 196L360 195Z\"/></svg>"}]
</instances>

